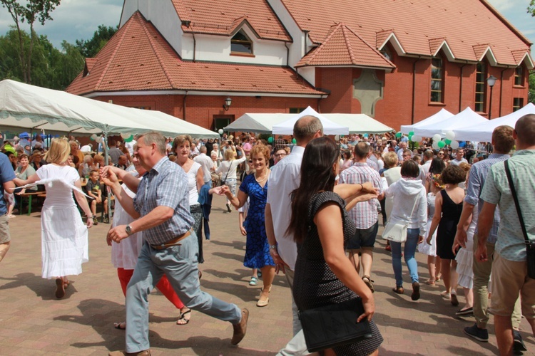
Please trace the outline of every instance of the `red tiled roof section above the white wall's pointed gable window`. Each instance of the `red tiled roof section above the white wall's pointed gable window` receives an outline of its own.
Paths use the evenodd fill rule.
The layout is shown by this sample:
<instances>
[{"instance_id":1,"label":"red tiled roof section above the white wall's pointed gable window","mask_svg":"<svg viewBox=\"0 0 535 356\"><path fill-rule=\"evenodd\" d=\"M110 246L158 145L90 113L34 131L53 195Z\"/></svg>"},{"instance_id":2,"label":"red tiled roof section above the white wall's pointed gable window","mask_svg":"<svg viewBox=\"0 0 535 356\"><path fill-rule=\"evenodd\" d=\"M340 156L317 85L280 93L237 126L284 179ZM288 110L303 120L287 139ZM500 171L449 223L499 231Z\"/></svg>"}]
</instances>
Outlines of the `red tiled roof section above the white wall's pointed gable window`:
<instances>
[{"instance_id":1,"label":"red tiled roof section above the white wall's pointed gable window","mask_svg":"<svg viewBox=\"0 0 535 356\"><path fill-rule=\"evenodd\" d=\"M185 33L211 33L230 36L247 18L260 38L292 41L282 23L265 0L172 0Z\"/></svg>"}]
</instances>

